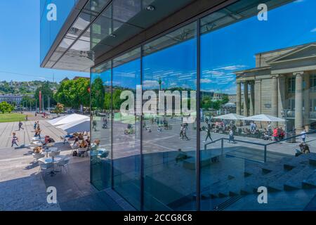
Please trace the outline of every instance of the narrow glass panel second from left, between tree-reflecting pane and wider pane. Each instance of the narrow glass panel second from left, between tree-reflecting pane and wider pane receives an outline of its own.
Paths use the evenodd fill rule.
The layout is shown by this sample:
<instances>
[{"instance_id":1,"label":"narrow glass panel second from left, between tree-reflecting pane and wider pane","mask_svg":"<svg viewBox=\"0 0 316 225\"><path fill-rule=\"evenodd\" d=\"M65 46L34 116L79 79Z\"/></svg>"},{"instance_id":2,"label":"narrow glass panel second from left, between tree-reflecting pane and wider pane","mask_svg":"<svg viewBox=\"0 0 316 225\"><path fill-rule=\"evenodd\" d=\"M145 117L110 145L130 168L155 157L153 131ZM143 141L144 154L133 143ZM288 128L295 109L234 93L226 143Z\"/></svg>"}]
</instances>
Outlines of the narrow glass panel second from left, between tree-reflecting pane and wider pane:
<instances>
[{"instance_id":1,"label":"narrow glass panel second from left, between tree-reflecting pane and wider pane","mask_svg":"<svg viewBox=\"0 0 316 225\"><path fill-rule=\"evenodd\" d=\"M115 191L140 210L140 114L136 115L140 49L114 58L112 70L113 186Z\"/></svg>"}]
</instances>

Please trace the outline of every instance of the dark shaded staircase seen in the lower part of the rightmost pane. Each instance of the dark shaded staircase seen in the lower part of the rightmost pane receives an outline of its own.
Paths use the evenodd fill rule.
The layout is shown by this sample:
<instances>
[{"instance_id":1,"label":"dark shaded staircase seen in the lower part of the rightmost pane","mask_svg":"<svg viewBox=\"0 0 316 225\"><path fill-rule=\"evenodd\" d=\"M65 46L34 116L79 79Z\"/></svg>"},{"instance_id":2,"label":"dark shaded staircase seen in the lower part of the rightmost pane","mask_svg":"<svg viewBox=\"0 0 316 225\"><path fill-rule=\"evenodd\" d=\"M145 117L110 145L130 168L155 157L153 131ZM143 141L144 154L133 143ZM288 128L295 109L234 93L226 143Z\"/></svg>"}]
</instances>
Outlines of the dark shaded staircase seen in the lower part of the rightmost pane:
<instances>
[{"instance_id":1,"label":"dark shaded staircase seen in the lower part of the rightmost pane","mask_svg":"<svg viewBox=\"0 0 316 225\"><path fill-rule=\"evenodd\" d=\"M225 158L222 158L222 163L223 161ZM225 210L225 207L237 202L244 195L258 194L260 186L267 187L270 193L316 188L316 153L265 164L245 161L244 172L239 169L220 175L223 177L220 181L211 184L209 190L202 191L204 200L223 198L221 203L216 200L218 205L215 205L214 210Z\"/></svg>"}]
</instances>

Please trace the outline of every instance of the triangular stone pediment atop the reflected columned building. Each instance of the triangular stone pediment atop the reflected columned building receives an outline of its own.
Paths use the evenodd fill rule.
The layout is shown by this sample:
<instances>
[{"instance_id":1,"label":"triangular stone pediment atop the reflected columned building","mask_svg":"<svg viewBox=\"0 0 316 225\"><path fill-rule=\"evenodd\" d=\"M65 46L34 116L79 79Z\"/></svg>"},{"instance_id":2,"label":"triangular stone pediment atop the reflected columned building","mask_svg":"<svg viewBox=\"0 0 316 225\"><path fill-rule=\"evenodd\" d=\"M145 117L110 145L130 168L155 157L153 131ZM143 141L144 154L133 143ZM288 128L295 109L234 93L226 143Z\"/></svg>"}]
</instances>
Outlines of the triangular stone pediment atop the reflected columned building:
<instances>
[{"instance_id":1,"label":"triangular stone pediment atop the reflected columned building","mask_svg":"<svg viewBox=\"0 0 316 225\"><path fill-rule=\"evenodd\" d=\"M271 60L268 60L267 63L273 65L277 63L306 60L311 58L316 58L316 43L302 46L301 48L290 51L282 56L272 58Z\"/></svg>"}]
</instances>

